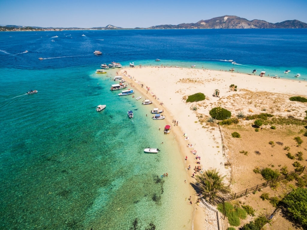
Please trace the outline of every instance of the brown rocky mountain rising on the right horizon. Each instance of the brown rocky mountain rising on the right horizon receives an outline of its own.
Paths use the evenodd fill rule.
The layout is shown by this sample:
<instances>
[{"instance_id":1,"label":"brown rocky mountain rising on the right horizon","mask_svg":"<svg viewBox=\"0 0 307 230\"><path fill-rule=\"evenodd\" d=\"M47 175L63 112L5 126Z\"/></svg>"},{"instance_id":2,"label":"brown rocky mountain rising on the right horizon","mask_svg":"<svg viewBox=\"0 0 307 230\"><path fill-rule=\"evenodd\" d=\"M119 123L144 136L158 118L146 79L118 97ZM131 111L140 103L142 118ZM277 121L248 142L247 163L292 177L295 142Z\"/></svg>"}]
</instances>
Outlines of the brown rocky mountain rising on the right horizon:
<instances>
[{"instance_id":1,"label":"brown rocky mountain rising on the right horizon","mask_svg":"<svg viewBox=\"0 0 307 230\"><path fill-rule=\"evenodd\" d=\"M271 29L271 28L307 28L307 23L298 20L289 20L270 23L254 19L252 21L237 16L221 16L196 23L181 23L179 25L156 25L148 29Z\"/></svg>"}]
</instances>

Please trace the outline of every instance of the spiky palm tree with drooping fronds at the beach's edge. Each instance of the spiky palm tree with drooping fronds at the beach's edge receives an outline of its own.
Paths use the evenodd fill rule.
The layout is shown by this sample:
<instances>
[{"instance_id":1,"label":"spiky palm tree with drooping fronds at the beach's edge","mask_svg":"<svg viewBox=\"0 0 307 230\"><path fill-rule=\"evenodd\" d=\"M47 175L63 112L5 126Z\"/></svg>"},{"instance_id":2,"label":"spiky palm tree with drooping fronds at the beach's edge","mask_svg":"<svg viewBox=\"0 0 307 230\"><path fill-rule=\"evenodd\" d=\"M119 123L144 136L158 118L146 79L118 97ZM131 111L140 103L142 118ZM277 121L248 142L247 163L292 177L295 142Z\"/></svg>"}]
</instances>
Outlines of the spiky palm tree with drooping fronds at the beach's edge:
<instances>
[{"instance_id":1,"label":"spiky palm tree with drooping fronds at the beach's edge","mask_svg":"<svg viewBox=\"0 0 307 230\"><path fill-rule=\"evenodd\" d=\"M204 173L196 175L196 187L208 203L217 205L223 200L230 200L230 189L223 183L224 177L216 169L206 170Z\"/></svg>"}]
</instances>

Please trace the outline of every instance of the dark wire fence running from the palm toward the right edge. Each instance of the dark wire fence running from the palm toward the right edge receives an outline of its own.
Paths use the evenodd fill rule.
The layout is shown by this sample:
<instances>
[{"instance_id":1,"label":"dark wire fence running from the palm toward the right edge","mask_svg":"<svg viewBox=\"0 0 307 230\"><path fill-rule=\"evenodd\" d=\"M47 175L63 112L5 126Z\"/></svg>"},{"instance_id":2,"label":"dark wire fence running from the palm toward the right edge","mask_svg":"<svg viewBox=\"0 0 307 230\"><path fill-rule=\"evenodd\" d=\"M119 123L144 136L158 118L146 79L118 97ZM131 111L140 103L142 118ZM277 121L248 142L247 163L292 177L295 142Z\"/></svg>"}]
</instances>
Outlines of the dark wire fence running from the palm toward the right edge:
<instances>
[{"instance_id":1,"label":"dark wire fence running from the palm toward the right edge","mask_svg":"<svg viewBox=\"0 0 307 230\"><path fill-rule=\"evenodd\" d=\"M306 172L305 172L305 171L306 171ZM255 185L254 187L247 188L247 189L245 189L244 191L235 193L235 195L234 195L233 197L231 197L231 198L232 198L232 200L235 200L235 199L237 199L237 198L246 196L247 194L256 192L256 191L259 190L259 189L266 188L267 186L270 186L270 182L282 181L282 180L286 179L286 178L288 177L288 175L291 175L292 173L295 173L295 174L298 174L298 175L301 174L301 173L307 174L307 170L305 170L305 166L304 166L304 168L302 168L301 170L294 170L294 171L292 171L292 172L288 172L286 175L280 175L279 177L276 178L276 180L273 180L273 181L266 181L266 182L264 182L264 183L262 183L262 184Z\"/></svg>"}]
</instances>

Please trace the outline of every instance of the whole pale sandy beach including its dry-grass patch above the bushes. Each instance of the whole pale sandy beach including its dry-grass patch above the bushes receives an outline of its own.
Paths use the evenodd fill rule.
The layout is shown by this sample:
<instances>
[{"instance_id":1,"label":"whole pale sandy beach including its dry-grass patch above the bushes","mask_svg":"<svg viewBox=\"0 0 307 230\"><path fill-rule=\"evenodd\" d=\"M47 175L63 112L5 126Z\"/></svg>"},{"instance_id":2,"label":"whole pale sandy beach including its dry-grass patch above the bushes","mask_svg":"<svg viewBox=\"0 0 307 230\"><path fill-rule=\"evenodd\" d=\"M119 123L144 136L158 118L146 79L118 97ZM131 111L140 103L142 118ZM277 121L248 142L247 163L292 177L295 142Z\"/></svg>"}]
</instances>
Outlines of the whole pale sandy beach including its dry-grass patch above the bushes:
<instances>
[{"instance_id":1,"label":"whole pale sandy beach including its dry-grass patch above the bushes","mask_svg":"<svg viewBox=\"0 0 307 230\"><path fill-rule=\"evenodd\" d=\"M284 103L282 108L270 107L277 99L289 96L306 96L307 82L274 79L260 77L259 74L248 75L229 71L213 71L196 68L170 68L139 66L135 68L124 68L118 72L125 76L130 87L134 87L142 94L143 99L153 100L153 106L164 109L163 115L166 121L172 124L172 134L175 136L185 170L188 174L188 183L194 183L192 177L194 167L200 166L202 170L219 170L220 174L230 176L230 168L225 166L228 161L227 153L223 151L221 132L216 127L199 122L197 115L209 116L209 111L221 106L231 111L235 116L239 111L245 115L261 113L263 107L274 110L275 115L286 115L289 108L295 107L297 116L305 117L304 107L298 106L297 102ZM143 87L142 87L143 84ZM229 86L237 86L237 92L231 91ZM220 91L219 97L213 96L215 90ZM186 103L187 96L202 92L206 99L202 102ZM258 93L259 98L248 97L249 93ZM257 95L257 94L256 94ZM197 107L194 111L192 107ZM271 111L272 112L272 111ZM174 121L176 125L174 127ZM188 147L189 145L189 147ZM192 146L191 146L192 145ZM196 150L195 154L191 153ZM200 159L196 160L196 156ZM197 164L196 162L200 162ZM188 166L191 169L188 170ZM191 194L195 191L191 187ZM192 229L217 229L216 223L210 221L210 214L196 205L196 194L192 197L194 211L192 213Z\"/></svg>"}]
</instances>

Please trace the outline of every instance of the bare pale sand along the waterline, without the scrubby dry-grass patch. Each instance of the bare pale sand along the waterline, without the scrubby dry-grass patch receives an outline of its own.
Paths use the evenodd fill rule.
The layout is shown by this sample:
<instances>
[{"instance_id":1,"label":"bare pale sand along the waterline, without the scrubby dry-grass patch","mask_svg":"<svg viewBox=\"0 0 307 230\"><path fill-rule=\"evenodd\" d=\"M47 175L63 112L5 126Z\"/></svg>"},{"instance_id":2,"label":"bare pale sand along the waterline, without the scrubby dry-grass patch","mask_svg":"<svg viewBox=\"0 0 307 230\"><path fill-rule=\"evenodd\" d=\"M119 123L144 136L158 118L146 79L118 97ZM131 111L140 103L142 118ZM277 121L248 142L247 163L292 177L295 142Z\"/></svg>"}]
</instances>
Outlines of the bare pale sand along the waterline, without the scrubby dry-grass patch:
<instances>
[{"instance_id":1,"label":"bare pale sand along the waterline, without the scrubby dry-grass patch","mask_svg":"<svg viewBox=\"0 0 307 230\"><path fill-rule=\"evenodd\" d=\"M195 155L191 154L190 151L192 149L197 150L196 155L201 158L200 166L203 170L216 168L220 174L226 175L228 179L230 169L224 166L227 162L227 156L223 155L220 131L210 126L204 127L200 124L196 113L191 110L192 105L197 103L185 103L183 97L203 92L206 96L206 102L208 100L208 107L201 108L201 111L208 114L211 108L216 107L214 104L219 104L219 100L227 100L228 96L233 96L235 93L242 94L244 90L302 96L307 89L306 82L216 70L142 66L142 68L122 69L121 75L125 76L127 82L134 85L136 90L141 92L142 96L146 99L151 99L155 107L164 109L167 123L172 123L172 119L178 121L178 128L172 127L171 132L175 135L179 145L181 159L184 159L185 156L188 157L187 160L183 160L183 166L187 174L189 191L193 194L191 218L192 229L195 230L206 229L208 226L210 227L210 223L206 220L207 214L204 212L204 209L196 205L197 197L195 191L189 185L195 182L195 179L192 178L192 173L194 172L192 169L198 165L196 164ZM144 85L143 88L141 84ZM238 85L238 92L230 91L230 84ZM215 89L220 90L220 98L212 96ZM163 105L161 106L160 103L163 103ZM247 108L244 110L247 111ZM233 111L232 114L234 114ZM188 136L188 140L182 137L184 133ZM193 147L188 148L187 144L192 144ZM187 169L189 165L191 165L191 170Z\"/></svg>"}]
</instances>

